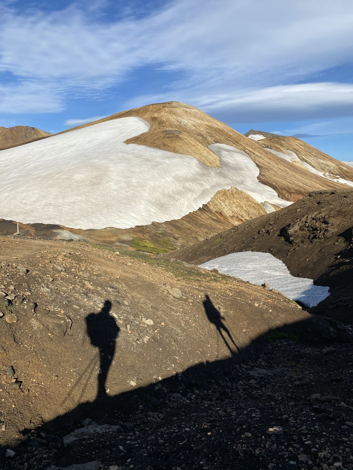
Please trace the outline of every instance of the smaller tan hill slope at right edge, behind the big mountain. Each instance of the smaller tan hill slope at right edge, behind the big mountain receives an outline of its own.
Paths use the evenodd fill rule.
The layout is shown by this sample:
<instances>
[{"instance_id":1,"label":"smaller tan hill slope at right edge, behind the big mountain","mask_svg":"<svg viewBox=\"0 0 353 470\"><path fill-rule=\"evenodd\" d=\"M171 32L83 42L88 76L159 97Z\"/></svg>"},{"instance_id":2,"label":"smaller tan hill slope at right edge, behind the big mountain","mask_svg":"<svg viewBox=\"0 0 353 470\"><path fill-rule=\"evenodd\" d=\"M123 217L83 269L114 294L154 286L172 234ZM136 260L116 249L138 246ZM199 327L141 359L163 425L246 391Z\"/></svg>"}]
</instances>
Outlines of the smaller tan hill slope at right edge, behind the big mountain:
<instances>
[{"instance_id":1,"label":"smaller tan hill slope at right edge, behind the big mountain","mask_svg":"<svg viewBox=\"0 0 353 470\"><path fill-rule=\"evenodd\" d=\"M282 153L287 153L286 150L291 150L300 160L308 163L320 172L329 173L333 176L338 175L345 180L351 180L352 178L350 166L330 157L297 137L272 136L256 141L256 143L265 149L273 149Z\"/></svg>"}]
</instances>

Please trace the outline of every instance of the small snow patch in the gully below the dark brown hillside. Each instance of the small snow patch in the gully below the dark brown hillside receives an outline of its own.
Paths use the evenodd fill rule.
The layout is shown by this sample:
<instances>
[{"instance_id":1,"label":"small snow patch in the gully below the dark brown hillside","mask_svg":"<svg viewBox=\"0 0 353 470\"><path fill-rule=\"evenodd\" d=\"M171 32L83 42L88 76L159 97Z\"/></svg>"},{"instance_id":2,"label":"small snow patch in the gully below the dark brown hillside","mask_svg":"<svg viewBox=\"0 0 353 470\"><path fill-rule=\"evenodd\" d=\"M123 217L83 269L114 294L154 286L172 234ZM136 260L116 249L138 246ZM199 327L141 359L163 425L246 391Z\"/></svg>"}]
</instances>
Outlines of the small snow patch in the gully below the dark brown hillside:
<instances>
[{"instance_id":1,"label":"small snow patch in the gully below the dark brown hillside","mask_svg":"<svg viewBox=\"0 0 353 470\"><path fill-rule=\"evenodd\" d=\"M312 279L294 277L287 266L270 253L241 251L211 259L200 265L206 269L216 268L220 273L240 277L252 284L267 282L288 298L298 300L307 307L314 307L329 296L329 288L315 286Z\"/></svg>"}]
</instances>

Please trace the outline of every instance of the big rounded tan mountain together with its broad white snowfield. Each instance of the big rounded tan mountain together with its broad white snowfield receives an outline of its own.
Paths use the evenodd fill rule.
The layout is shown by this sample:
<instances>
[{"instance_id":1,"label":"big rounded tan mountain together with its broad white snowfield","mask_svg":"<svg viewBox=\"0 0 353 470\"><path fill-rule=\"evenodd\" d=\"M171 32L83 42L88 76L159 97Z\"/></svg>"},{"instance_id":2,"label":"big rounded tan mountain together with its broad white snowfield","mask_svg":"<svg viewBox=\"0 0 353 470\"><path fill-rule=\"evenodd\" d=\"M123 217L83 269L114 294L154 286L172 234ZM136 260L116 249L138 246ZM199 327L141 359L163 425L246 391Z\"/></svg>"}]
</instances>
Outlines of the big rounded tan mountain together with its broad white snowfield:
<instances>
[{"instance_id":1,"label":"big rounded tan mountain together with its broad white snowfield","mask_svg":"<svg viewBox=\"0 0 353 470\"><path fill-rule=\"evenodd\" d=\"M312 190L342 186L178 102L2 150L0 170L0 218L80 229L146 227L193 211L184 227L217 218L231 227ZM353 169L347 172L353 180Z\"/></svg>"}]
</instances>

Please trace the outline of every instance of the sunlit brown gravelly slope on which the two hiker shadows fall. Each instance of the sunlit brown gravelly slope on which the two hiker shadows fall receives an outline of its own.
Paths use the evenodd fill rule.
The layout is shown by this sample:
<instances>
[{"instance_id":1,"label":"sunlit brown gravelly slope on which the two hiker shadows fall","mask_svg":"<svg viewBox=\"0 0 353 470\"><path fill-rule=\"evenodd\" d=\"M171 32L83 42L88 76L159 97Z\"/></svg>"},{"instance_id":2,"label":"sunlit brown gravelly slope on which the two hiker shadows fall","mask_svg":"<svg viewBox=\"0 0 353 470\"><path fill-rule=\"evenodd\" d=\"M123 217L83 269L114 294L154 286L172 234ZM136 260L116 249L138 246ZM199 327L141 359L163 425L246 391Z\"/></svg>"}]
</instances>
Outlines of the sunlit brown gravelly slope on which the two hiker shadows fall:
<instances>
[{"instance_id":1,"label":"sunlit brown gravelly slope on which the two hiker shadows fall","mask_svg":"<svg viewBox=\"0 0 353 470\"><path fill-rule=\"evenodd\" d=\"M0 245L4 445L92 402L97 382L109 401L199 364L245 360L273 329L306 341L340 336L281 294L182 262L81 242Z\"/></svg>"}]
</instances>

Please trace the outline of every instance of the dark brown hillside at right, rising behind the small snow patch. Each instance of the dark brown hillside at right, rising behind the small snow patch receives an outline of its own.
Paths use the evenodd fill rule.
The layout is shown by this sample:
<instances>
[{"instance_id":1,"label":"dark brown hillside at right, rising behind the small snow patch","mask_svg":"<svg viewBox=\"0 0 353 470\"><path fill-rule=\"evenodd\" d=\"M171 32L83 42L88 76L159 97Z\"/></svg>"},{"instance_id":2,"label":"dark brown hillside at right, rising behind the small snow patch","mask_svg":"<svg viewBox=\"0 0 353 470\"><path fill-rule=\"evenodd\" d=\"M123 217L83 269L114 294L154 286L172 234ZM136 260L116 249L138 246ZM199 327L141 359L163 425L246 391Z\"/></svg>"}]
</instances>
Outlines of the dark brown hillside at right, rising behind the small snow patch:
<instances>
[{"instance_id":1,"label":"dark brown hillside at right, rising behind the small snow patch","mask_svg":"<svg viewBox=\"0 0 353 470\"><path fill-rule=\"evenodd\" d=\"M352 209L352 190L311 193L281 211L164 256L199 265L236 251L272 253L292 275L329 286L329 297L314 312L353 323Z\"/></svg>"}]
</instances>

